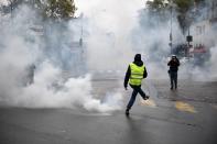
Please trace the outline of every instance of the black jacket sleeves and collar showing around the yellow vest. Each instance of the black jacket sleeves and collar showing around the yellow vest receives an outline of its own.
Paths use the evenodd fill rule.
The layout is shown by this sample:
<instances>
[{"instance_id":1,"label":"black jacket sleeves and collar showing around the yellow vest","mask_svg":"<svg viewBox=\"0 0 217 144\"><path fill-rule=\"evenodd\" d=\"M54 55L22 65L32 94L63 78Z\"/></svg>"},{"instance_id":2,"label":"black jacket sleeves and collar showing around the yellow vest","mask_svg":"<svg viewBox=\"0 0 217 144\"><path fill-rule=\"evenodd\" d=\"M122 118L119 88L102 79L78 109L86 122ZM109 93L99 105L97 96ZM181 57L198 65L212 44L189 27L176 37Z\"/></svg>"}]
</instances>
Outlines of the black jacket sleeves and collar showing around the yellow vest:
<instances>
[{"instance_id":1,"label":"black jacket sleeves and collar showing around the yellow vest","mask_svg":"<svg viewBox=\"0 0 217 144\"><path fill-rule=\"evenodd\" d=\"M142 66L143 65L143 62L141 60L141 58L140 59L134 59L134 62L133 62L137 66ZM126 73L126 78L124 78L124 84L123 84L123 86L124 86L124 88L127 88L128 87L128 81L129 81L129 79L130 79L130 75L131 75L131 69L130 69L130 65L128 66L128 70L127 70L127 73ZM143 74L143 78L147 78L147 76L148 76L148 73L147 73L147 69L145 69L145 67L144 67L144 74Z\"/></svg>"}]
</instances>

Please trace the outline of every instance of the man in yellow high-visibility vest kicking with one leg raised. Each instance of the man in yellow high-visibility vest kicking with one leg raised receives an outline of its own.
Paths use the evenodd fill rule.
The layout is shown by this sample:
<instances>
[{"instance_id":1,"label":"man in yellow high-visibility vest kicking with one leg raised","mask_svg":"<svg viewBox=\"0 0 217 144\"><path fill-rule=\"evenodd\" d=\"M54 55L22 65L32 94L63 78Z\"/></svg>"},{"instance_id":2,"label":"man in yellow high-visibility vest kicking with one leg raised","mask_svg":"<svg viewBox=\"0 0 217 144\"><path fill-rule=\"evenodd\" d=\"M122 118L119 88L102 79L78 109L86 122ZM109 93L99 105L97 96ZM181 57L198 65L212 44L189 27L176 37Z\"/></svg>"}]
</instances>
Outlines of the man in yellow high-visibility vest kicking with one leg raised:
<instances>
[{"instance_id":1,"label":"man in yellow high-visibility vest kicking with one leg raised","mask_svg":"<svg viewBox=\"0 0 217 144\"><path fill-rule=\"evenodd\" d=\"M148 76L147 68L143 62L141 60L141 54L135 54L134 62L130 63L128 67L128 70L126 73L124 84L123 84L126 90L128 88L128 82L130 87L133 89L131 99L126 109L127 115L129 115L129 111L135 101L135 97L138 92L141 95L141 97L144 100L149 99L149 96L147 96L141 89L142 79L147 78L147 76Z\"/></svg>"}]
</instances>

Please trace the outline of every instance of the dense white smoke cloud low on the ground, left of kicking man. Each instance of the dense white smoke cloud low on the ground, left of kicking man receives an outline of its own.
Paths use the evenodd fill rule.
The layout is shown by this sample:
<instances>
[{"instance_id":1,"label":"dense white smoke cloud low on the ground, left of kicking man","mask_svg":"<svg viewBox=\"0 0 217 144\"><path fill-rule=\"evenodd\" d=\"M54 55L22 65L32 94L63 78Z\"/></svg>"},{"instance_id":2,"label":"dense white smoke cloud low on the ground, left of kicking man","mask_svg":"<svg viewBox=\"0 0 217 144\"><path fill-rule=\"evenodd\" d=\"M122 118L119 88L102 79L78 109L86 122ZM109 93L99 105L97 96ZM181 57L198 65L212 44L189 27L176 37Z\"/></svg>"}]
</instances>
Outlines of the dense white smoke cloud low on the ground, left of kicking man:
<instances>
[{"instance_id":1,"label":"dense white smoke cloud low on the ground, left of kicking man","mask_svg":"<svg viewBox=\"0 0 217 144\"><path fill-rule=\"evenodd\" d=\"M99 112L121 109L120 103L110 104L107 100L102 102L100 99L94 98L90 75L69 78L66 81L59 80L59 69L53 67L48 62L43 63L35 75L34 84L22 89L23 95L18 102L32 108L73 108L80 106L86 110ZM54 84L61 88L57 89ZM120 93L109 95L108 97L116 99L115 101L122 100Z\"/></svg>"}]
</instances>

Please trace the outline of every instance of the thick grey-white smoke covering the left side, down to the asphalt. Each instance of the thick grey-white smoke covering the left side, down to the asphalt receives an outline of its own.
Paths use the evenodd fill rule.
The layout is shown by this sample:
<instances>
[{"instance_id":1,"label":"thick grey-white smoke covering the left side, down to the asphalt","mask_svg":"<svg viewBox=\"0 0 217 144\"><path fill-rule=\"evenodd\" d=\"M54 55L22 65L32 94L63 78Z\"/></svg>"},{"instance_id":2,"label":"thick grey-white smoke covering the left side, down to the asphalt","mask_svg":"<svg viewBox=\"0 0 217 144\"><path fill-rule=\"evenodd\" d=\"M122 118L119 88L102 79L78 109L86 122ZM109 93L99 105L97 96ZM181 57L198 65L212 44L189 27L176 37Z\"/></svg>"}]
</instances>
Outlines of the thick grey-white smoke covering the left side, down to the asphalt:
<instances>
[{"instance_id":1,"label":"thick grey-white smoke covering the left side, down to the asphalt","mask_svg":"<svg viewBox=\"0 0 217 144\"><path fill-rule=\"evenodd\" d=\"M68 40L74 38L73 34L76 33L69 31L72 26L68 26L68 23L42 22L26 5L20 7L14 13L13 18L1 16L3 20L0 25L1 104L25 108L83 108L98 112L121 109L120 92L111 91L97 99L91 93L91 76L77 75L79 71L87 73L84 69L76 68L78 70L76 75L72 70L76 64L82 64L78 62L79 57L76 58L76 54L79 55L82 52L73 54L70 51ZM39 23L48 31L41 35L41 29L32 23ZM68 33L64 33L65 37L59 36L62 32L59 25L68 29ZM31 29L36 29L36 32ZM33 69L30 69L32 66ZM67 71L68 76L64 77L63 71Z\"/></svg>"}]
</instances>

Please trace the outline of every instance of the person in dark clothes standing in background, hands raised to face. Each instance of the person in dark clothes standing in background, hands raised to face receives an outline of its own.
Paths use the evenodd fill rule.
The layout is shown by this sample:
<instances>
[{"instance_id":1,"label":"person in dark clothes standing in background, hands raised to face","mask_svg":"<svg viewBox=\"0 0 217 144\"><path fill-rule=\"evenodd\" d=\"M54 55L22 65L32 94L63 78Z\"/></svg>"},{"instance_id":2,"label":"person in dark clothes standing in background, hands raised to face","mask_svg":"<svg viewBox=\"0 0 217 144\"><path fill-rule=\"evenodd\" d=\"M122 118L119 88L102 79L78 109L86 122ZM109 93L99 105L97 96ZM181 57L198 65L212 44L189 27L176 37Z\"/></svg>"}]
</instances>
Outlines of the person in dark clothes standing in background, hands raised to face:
<instances>
[{"instance_id":1,"label":"person in dark clothes standing in background, hands raised to face","mask_svg":"<svg viewBox=\"0 0 217 144\"><path fill-rule=\"evenodd\" d=\"M171 90L173 89L173 86L175 85L175 89L177 89L177 70L180 66L178 58L173 55L171 60L167 63L167 66L170 66L169 75L171 78Z\"/></svg>"}]
</instances>

